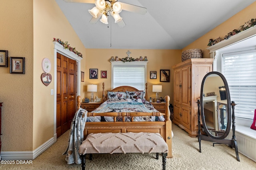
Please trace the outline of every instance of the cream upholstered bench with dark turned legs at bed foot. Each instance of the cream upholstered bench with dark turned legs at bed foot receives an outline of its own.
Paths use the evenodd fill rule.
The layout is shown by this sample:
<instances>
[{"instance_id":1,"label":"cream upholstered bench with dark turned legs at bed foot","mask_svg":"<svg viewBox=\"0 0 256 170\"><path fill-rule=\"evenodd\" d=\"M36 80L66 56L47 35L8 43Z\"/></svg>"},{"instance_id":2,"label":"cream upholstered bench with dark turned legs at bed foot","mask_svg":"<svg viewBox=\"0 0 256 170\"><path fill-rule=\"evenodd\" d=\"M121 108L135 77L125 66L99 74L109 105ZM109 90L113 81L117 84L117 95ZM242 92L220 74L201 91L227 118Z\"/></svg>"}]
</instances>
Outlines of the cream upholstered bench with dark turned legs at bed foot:
<instances>
[{"instance_id":1,"label":"cream upholstered bench with dark turned legs at bed foot","mask_svg":"<svg viewBox=\"0 0 256 170\"><path fill-rule=\"evenodd\" d=\"M94 153L162 153L163 170L166 168L168 145L160 133L91 133L79 147L82 170L85 170L85 156Z\"/></svg>"}]
</instances>

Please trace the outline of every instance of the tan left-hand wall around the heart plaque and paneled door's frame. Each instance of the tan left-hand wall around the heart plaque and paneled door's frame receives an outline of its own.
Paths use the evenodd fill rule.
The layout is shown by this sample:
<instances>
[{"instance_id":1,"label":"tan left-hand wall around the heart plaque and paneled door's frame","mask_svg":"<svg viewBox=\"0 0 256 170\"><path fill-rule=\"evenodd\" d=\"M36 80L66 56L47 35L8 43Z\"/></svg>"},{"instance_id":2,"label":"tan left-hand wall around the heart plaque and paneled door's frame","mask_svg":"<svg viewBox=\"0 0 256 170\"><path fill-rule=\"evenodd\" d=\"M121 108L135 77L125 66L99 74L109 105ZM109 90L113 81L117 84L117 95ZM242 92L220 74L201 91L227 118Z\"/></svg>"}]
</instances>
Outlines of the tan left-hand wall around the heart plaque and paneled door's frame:
<instances>
[{"instance_id":1,"label":"tan left-hand wall around the heart plaque and paneled door's frame","mask_svg":"<svg viewBox=\"0 0 256 170\"><path fill-rule=\"evenodd\" d=\"M31 151L54 135L53 38L68 41L83 54L82 69L85 48L54 0L1 0L0 21L0 49L8 50L9 57L26 59L26 74L10 74L10 66L0 68L2 151ZM40 80L45 57L52 63L49 86Z\"/></svg>"}]
</instances>

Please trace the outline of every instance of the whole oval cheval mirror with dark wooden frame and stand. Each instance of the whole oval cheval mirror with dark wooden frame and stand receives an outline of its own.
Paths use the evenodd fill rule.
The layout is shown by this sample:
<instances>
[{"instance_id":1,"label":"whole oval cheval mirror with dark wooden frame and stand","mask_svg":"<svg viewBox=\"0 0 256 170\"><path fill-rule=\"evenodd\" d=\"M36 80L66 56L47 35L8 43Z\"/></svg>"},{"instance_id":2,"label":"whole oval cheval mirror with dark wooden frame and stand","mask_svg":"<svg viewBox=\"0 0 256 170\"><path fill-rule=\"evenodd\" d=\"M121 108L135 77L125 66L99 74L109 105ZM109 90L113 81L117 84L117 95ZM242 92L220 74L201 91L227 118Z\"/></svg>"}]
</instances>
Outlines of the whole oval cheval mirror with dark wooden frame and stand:
<instances>
[{"instance_id":1,"label":"whole oval cheval mirror with dark wooden frame and stand","mask_svg":"<svg viewBox=\"0 0 256 170\"><path fill-rule=\"evenodd\" d=\"M197 103L199 152L201 152L201 140L212 141L213 146L226 144L235 149L236 159L240 161L235 136L234 107L236 104L230 102L228 83L220 72L209 72L204 76L200 100ZM202 121L200 121L200 108ZM225 139L230 132L231 123L232 139Z\"/></svg>"}]
</instances>

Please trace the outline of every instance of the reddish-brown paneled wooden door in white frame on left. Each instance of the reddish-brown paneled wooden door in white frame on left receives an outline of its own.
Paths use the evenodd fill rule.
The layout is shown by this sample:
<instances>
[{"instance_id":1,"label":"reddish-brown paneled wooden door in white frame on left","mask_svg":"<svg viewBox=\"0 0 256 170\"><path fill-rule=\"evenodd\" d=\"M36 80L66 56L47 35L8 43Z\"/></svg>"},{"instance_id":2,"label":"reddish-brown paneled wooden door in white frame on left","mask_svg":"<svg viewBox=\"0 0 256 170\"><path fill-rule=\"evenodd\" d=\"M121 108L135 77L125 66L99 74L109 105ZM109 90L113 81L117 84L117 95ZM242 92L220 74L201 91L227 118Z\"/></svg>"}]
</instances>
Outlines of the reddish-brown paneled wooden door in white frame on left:
<instances>
[{"instance_id":1,"label":"reddish-brown paneled wooden door in white frame on left","mask_svg":"<svg viewBox=\"0 0 256 170\"><path fill-rule=\"evenodd\" d=\"M70 129L76 113L76 61L57 53L57 137Z\"/></svg>"}]
</instances>

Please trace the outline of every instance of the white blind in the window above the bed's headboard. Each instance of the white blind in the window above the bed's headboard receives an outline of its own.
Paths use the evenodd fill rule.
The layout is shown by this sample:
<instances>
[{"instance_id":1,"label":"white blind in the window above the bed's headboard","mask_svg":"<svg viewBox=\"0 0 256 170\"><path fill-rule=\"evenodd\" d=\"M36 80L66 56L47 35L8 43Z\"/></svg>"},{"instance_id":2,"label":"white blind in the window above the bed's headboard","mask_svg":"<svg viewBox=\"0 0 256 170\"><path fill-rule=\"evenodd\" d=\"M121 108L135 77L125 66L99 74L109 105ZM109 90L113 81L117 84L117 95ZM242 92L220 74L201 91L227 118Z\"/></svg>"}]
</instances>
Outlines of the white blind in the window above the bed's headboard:
<instances>
[{"instance_id":1,"label":"white blind in the window above the bed's headboard","mask_svg":"<svg viewBox=\"0 0 256 170\"><path fill-rule=\"evenodd\" d=\"M118 86L132 86L138 90L145 89L144 66L114 66L113 88Z\"/></svg>"}]
</instances>

